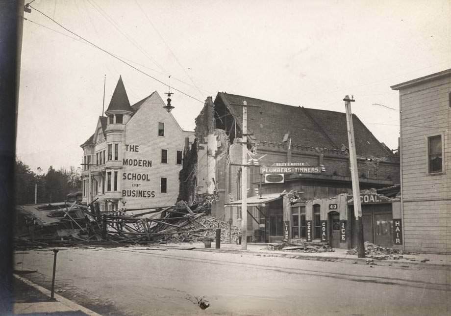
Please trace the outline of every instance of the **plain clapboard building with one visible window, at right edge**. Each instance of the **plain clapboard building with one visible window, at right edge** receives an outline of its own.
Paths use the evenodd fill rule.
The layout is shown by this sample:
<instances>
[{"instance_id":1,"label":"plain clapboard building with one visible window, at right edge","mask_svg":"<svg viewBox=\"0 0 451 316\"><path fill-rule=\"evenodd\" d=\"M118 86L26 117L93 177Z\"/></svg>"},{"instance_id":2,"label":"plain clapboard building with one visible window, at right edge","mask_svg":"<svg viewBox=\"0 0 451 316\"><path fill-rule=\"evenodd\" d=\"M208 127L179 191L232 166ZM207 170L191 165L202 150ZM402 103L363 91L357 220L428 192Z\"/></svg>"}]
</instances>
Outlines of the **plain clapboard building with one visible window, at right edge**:
<instances>
[{"instance_id":1,"label":"plain clapboard building with one visible window, at right edge","mask_svg":"<svg viewBox=\"0 0 451 316\"><path fill-rule=\"evenodd\" d=\"M391 88L400 93L405 250L451 253L451 69Z\"/></svg>"}]
</instances>

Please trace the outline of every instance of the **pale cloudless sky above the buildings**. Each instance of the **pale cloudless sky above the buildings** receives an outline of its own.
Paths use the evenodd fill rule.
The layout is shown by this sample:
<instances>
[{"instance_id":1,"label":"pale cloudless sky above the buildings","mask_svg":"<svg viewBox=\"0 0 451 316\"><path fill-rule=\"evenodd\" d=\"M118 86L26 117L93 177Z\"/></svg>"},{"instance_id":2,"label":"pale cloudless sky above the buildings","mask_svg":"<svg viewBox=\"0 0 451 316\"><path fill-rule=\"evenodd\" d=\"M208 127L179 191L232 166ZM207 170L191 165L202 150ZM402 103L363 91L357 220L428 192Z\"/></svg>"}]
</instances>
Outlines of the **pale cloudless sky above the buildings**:
<instances>
[{"instance_id":1,"label":"pale cloudless sky above the buildings","mask_svg":"<svg viewBox=\"0 0 451 316\"><path fill-rule=\"evenodd\" d=\"M390 86L451 68L449 0L35 0L31 6L17 156L34 172L79 166L79 145L102 113L105 75L105 109L120 75L130 104L153 91L165 99L171 85L172 113L188 131L206 97L217 92L339 112L345 95L353 95L352 112L396 149L399 94Z\"/></svg>"}]
</instances>

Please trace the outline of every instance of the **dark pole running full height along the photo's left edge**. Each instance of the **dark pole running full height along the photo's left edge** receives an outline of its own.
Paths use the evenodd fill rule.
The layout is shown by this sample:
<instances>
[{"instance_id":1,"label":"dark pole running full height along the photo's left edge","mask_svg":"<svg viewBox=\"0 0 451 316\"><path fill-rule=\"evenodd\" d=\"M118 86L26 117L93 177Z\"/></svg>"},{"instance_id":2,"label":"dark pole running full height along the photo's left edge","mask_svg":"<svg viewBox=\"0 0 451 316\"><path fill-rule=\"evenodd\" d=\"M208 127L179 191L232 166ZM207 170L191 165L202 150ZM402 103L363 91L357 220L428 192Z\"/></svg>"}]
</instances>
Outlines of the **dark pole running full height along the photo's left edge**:
<instances>
[{"instance_id":1,"label":"dark pole running full height along the photo's left edge","mask_svg":"<svg viewBox=\"0 0 451 316\"><path fill-rule=\"evenodd\" d=\"M14 165L24 0L0 1L0 21L0 315L12 315Z\"/></svg>"}]
</instances>

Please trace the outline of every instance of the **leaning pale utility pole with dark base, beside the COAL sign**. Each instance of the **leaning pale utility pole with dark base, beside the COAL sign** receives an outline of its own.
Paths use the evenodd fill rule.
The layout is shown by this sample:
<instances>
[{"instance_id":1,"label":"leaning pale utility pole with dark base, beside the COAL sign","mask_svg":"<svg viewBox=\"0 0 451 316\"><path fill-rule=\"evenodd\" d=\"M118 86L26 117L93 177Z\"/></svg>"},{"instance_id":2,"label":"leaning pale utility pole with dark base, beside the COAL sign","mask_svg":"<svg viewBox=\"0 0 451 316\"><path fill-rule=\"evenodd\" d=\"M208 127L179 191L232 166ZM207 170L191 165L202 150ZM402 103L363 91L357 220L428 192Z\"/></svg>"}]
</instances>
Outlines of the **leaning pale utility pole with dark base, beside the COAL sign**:
<instances>
[{"instance_id":1,"label":"leaning pale utility pole with dark base, beside the COAL sign","mask_svg":"<svg viewBox=\"0 0 451 316\"><path fill-rule=\"evenodd\" d=\"M355 153L354 141L354 126L352 124L351 102L355 100L350 99L347 95L345 101L346 107L346 123L348 125L348 141L349 141L349 159L351 161L351 179L352 179L352 197L354 200L354 216L355 224L357 226L357 249L358 258L365 258L365 244L363 242L363 220L362 220L362 206L360 204L360 187L359 176L357 170L357 155Z\"/></svg>"}]
</instances>

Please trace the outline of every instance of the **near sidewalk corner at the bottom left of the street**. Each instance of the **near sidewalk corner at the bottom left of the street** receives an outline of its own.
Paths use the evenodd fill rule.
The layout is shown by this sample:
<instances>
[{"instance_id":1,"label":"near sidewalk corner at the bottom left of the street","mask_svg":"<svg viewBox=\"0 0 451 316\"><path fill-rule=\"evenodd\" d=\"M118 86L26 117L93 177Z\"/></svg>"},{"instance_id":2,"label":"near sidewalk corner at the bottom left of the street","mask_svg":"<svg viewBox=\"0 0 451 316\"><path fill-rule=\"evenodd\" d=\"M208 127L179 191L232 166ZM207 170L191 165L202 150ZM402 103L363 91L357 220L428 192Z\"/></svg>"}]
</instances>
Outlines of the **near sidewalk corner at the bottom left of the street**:
<instances>
[{"instance_id":1,"label":"near sidewalk corner at the bottom left of the street","mask_svg":"<svg viewBox=\"0 0 451 316\"><path fill-rule=\"evenodd\" d=\"M14 274L14 315L100 316L67 298L54 294L27 279Z\"/></svg>"}]
</instances>

